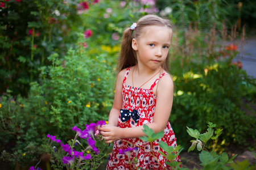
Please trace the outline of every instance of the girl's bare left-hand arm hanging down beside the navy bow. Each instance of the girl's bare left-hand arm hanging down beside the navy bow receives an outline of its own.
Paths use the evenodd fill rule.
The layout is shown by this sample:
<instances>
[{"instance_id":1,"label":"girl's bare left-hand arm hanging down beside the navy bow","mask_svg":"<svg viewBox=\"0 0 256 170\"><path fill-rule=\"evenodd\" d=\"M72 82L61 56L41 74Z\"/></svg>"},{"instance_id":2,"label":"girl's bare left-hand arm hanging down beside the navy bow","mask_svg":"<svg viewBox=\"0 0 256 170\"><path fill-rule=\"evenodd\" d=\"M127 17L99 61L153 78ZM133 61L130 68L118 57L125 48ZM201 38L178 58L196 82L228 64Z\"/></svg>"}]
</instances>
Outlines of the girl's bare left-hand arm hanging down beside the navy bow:
<instances>
[{"instance_id":1,"label":"girl's bare left-hand arm hanging down beside the navy bow","mask_svg":"<svg viewBox=\"0 0 256 170\"><path fill-rule=\"evenodd\" d=\"M120 109L122 108L123 98L122 98L122 86L123 86L123 78L125 76L125 71L122 70L117 76L117 83L115 84L115 96L113 107L109 113L109 123L108 126L117 126L118 125L118 117L120 114Z\"/></svg>"}]
</instances>

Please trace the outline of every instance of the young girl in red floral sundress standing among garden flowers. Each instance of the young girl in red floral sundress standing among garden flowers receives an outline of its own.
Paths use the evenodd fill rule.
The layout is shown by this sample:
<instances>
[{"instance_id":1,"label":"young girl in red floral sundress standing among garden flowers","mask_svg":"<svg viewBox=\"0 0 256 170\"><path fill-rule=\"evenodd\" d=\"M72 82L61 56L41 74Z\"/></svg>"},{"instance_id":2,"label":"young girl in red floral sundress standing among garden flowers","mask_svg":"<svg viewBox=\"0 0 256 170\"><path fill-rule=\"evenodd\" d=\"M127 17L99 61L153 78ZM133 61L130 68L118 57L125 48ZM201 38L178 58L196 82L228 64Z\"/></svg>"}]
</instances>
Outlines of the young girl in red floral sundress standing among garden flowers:
<instances>
[{"instance_id":1,"label":"young girl in red floral sundress standing among garden flowers","mask_svg":"<svg viewBox=\"0 0 256 170\"><path fill-rule=\"evenodd\" d=\"M135 167L171 169L159 153L164 152L159 141L176 146L175 134L168 122L174 95L174 83L168 74L171 40L170 21L156 15L143 16L123 32L114 103L108 125L100 128L105 142L114 142L107 169L133 169L135 156L138 160ZM143 142L139 139L145 135L143 124L155 133L163 130L164 137L152 146ZM137 150L127 152L129 156L119 153L129 147Z\"/></svg>"}]
</instances>

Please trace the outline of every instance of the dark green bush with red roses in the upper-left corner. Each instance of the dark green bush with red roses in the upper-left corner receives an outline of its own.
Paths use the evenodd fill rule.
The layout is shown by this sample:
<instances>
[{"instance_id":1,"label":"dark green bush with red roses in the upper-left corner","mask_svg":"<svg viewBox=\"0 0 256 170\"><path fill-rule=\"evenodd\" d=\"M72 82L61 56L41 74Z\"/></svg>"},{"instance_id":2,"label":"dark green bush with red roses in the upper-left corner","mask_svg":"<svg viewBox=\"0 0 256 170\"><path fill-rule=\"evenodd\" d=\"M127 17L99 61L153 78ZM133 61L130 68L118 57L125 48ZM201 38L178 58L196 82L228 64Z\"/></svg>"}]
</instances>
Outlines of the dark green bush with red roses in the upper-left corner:
<instances>
[{"instance_id":1,"label":"dark green bush with red roses in the upper-left corner","mask_svg":"<svg viewBox=\"0 0 256 170\"><path fill-rule=\"evenodd\" d=\"M74 46L81 18L79 1L9 1L0 10L1 91L26 96L38 80L38 68L49 65L47 56L64 55Z\"/></svg>"}]
</instances>

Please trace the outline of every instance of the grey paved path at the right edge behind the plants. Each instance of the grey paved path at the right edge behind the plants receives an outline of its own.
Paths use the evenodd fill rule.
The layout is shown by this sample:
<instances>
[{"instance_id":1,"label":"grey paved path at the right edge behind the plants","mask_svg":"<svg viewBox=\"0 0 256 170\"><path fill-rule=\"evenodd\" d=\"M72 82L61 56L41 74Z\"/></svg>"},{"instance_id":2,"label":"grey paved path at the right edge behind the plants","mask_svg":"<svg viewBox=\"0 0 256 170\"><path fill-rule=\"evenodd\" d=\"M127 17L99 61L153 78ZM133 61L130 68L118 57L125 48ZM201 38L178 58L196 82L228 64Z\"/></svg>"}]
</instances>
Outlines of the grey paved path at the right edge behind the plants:
<instances>
[{"instance_id":1,"label":"grey paved path at the right edge behind the plants","mask_svg":"<svg viewBox=\"0 0 256 170\"><path fill-rule=\"evenodd\" d=\"M256 78L256 37L251 37L245 40L246 44L243 46L243 58L240 53L240 60L242 61L243 70L250 76ZM240 48L240 46L238 46ZM241 52L241 49L238 49Z\"/></svg>"}]
</instances>

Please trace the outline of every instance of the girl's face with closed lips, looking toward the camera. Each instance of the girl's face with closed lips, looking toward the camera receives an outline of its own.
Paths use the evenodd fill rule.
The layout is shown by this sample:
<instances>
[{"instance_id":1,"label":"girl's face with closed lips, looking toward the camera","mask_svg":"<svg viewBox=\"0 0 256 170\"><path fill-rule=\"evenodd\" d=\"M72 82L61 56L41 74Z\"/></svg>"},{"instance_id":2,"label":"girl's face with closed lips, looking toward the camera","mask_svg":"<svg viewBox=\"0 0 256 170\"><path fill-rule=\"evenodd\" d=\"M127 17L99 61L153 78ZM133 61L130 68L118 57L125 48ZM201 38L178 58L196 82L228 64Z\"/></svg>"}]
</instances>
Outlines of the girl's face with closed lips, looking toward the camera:
<instances>
[{"instance_id":1,"label":"girl's face with closed lips, looking toward the camera","mask_svg":"<svg viewBox=\"0 0 256 170\"><path fill-rule=\"evenodd\" d=\"M167 27L148 26L139 39L133 39L132 46L137 53L138 64L149 69L158 69L169 53L172 30Z\"/></svg>"}]
</instances>

